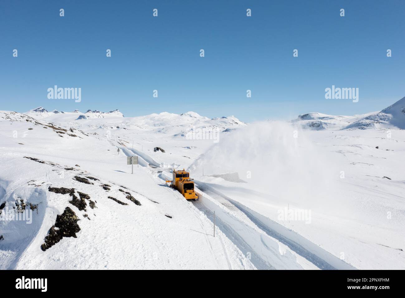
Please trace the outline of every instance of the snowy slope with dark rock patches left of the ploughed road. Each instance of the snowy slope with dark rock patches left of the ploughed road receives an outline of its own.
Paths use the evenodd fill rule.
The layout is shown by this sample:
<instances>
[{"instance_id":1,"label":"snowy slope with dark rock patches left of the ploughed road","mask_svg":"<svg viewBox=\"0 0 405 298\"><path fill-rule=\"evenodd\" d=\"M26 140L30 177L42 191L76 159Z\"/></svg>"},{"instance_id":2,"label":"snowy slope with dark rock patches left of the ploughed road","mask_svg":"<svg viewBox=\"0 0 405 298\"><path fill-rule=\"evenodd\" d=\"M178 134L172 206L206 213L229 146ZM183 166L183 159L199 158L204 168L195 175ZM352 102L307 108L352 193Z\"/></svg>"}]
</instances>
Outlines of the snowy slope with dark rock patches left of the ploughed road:
<instances>
[{"instance_id":1,"label":"snowy slope with dark rock patches left of the ploughed road","mask_svg":"<svg viewBox=\"0 0 405 298\"><path fill-rule=\"evenodd\" d=\"M255 268L148 163L130 174L115 135L9 111L0 131L2 216L32 213L0 221L1 269Z\"/></svg>"}]
</instances>

